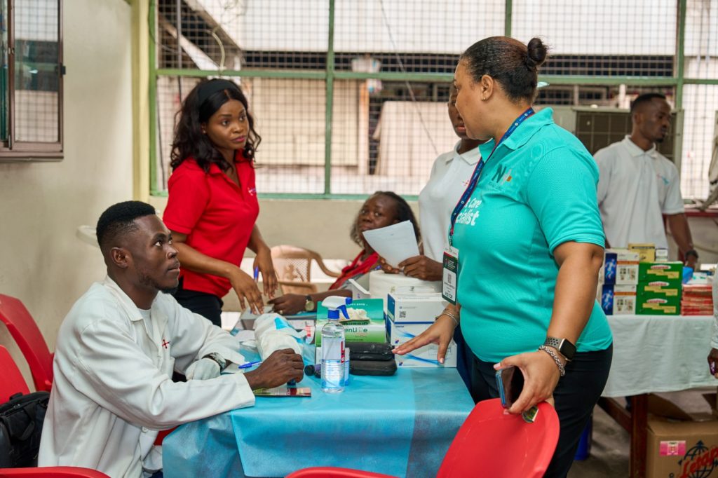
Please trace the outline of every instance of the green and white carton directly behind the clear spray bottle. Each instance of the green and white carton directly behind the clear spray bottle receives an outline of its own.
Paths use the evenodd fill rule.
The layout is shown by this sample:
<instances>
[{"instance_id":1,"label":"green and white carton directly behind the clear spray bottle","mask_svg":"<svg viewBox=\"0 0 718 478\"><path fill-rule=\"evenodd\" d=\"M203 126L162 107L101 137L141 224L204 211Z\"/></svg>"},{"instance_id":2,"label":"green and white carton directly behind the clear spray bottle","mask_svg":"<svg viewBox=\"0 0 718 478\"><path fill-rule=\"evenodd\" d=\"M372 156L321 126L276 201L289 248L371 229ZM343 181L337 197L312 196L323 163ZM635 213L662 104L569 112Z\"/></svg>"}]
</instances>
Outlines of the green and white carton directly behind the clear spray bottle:
<instances>
[{"instance_id":1,"label":"green and white carton directly behind the clear spray bottle","mask_svg":"<svg viewBox=\"0 0 718 478\"><path fill-rule=\"evenodd\" d=\"M354 311L350 311L354 309ZM353 342L386 343L386 323L384 321L384 301L382 299L360 299L347 306L350 317L361 317L361 320L342 320L345 340ZM322 345L322 327L327 323L327 308L320 302L317 306L317 328L314 342L317 347Z\"/></svg>"}]
</instances>

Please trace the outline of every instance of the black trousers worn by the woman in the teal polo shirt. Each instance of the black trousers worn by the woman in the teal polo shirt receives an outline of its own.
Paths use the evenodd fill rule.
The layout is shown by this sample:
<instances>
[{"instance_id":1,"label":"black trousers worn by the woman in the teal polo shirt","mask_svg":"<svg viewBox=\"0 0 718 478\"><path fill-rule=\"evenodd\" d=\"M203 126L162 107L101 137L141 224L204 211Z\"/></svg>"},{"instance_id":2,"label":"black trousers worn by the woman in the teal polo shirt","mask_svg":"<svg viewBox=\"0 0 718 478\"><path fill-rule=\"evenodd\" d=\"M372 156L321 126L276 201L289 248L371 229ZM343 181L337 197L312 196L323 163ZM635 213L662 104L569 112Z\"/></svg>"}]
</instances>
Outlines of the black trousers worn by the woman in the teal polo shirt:
<instances>
[{"instance_id":1,"label":"black trousers worn by the woman in the teal polo shirt","mask_svg":"<svg viewBox=\"0 0 718 478\"><path fill-rule=\"evenodd\" d=\"M611 367L613 345L597 352L578 352L567 363L566 375L554 390L559 416L559 443L545 477L563 478L571 469L581 434L601 396ZM473 396L479 400L498 398L493 363L474 357Z\"/></svg>"}]
</instances>

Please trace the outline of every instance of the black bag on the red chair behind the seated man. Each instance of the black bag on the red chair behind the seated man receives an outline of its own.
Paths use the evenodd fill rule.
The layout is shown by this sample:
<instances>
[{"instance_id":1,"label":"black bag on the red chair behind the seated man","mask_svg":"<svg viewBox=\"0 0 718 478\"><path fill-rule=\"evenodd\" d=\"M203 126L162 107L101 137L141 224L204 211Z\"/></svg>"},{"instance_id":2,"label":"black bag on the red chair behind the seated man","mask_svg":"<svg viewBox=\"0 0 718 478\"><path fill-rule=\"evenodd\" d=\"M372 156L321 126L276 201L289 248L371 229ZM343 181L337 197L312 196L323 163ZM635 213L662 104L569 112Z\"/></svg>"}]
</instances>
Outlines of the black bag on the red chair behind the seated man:
<instances>
[{"instance_id":1,"label":"black bag on the red chair behind the seated man","mask_svg":"<svg viewBox=\"0 0 718 478\"><path fill-rule=\"evenodd\" d=\"M16 393L0 405L0 468L37 467L50 393Z\"/></svg>"}]
</instances>

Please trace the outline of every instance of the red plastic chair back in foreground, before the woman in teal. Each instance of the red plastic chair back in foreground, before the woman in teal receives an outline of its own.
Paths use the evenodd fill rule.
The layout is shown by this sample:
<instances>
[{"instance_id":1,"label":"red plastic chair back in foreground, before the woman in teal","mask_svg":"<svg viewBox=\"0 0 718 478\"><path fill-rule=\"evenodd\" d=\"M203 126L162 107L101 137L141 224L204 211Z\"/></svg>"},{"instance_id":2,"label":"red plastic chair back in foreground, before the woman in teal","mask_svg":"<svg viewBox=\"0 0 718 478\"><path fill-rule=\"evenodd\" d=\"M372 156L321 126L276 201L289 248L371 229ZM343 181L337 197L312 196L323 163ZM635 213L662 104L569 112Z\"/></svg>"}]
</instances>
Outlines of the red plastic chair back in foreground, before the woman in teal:
<instances>
[{"instance_id":1,"label":"red plastic chair back in foreground, before the woman in teal","mask_svg":"<svg viewBox=\"0 0 718 478\"><path fill-rule=\"evenodd\" d=\"M504 415L501 400L476 404L449 446L437 478L540 478L559 441L559 417L548 403L538 404L533 423Z\"/></svg>"}]
</instances>

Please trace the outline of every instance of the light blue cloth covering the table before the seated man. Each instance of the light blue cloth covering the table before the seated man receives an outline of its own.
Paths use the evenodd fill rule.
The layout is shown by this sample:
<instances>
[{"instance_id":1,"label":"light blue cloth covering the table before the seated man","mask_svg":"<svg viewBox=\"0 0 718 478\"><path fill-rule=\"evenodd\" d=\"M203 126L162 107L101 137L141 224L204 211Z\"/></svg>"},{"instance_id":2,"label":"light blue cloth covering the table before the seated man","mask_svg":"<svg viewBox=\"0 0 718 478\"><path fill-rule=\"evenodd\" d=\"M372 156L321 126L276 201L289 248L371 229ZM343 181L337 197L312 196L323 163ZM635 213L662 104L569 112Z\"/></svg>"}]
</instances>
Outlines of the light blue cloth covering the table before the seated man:
<instances>
[{"instance_id":1,"label":"light blue cloth covering the table before the seated man","mask_svg":"<svg viewBox=\"0 0 718 478\"><path fill-rule=\"evenodd\" d=\"M473 408L456 369L352 375L344 393L258 397L255 406L177 428L163 442L173 477L284 477L306 467L348 467L397 477L435 477Z\"/></svg>"}]
</instances>

